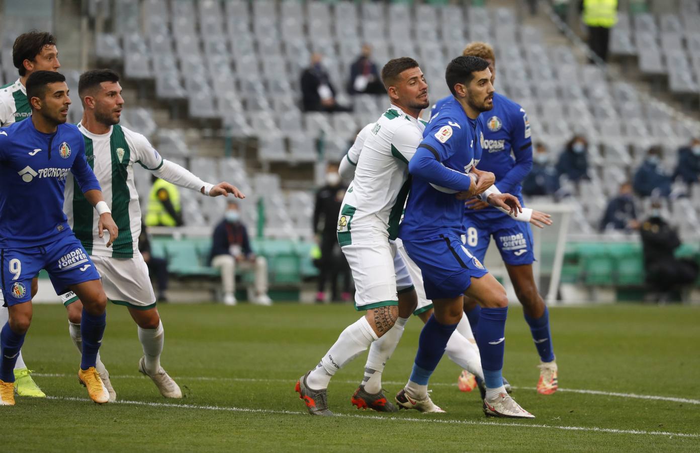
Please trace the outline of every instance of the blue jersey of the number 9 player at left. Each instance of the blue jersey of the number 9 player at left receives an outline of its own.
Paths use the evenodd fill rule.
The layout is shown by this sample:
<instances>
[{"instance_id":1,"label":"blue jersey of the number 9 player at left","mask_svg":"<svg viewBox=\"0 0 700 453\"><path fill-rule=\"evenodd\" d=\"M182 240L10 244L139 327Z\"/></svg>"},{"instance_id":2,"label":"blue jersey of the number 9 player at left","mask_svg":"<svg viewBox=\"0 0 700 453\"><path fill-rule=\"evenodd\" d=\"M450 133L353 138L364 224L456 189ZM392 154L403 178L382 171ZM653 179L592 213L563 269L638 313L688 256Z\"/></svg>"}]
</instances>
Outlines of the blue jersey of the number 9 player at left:
<instances>
[{"instance_id":1,"label":"blue jersey of the number 9 player at left","mask_svg":"<svg viewBox=\"0 0 700 453\"><path fill-rule=\"evenodd\" d=\"M44 134L29 119L0 129L0 247L41 246L71 234L63 212L69 172L83 192L100 190L75 125Z\"/></svg>"}]
</instances>

